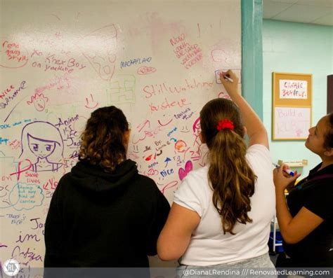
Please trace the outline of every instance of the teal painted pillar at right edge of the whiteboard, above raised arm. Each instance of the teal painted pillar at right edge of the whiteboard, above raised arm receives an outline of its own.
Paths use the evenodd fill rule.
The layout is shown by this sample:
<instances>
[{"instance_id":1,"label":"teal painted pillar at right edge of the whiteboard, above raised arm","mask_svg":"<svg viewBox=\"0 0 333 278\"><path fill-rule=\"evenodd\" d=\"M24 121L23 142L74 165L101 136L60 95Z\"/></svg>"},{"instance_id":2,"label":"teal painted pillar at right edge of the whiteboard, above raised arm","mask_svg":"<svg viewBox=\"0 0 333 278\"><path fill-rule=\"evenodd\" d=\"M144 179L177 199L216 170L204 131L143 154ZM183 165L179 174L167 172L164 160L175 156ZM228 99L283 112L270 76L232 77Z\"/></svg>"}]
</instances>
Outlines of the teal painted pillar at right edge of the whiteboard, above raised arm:
<instances>
[{"instance_id":1,"label":"teal painted pillar at right edge of the whiteboard, above raised arm","mask_svg":"<svg viewBox=\"0 0 333 278\"><path fill-rule=\"evenodd\" d=\"M242 0L242 95L263 120L263 1Z\"/></svg>"}]
</instances>

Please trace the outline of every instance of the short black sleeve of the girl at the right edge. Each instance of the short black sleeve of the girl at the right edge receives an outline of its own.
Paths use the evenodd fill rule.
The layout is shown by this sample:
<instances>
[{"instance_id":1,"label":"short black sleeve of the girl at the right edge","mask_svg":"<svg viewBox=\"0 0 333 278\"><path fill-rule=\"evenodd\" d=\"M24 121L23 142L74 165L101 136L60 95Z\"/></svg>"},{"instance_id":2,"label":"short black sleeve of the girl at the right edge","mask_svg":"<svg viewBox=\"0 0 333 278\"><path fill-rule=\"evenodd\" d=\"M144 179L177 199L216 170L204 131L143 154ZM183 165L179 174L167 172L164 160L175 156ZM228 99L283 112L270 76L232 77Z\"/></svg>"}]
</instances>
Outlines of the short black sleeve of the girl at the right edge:
<instances>
[{"instance_id":1,"label":"short black sleeve of the girl at the right edge","mask_svg":"<svg viewBox=\"0 0 333 278\"><path fill-rule=\"evenodd\" d=\"M305 192L304 207L320 218L327 219L333 215L333 181L325 179L311 186Z\"/></svg>"}]
</instances>

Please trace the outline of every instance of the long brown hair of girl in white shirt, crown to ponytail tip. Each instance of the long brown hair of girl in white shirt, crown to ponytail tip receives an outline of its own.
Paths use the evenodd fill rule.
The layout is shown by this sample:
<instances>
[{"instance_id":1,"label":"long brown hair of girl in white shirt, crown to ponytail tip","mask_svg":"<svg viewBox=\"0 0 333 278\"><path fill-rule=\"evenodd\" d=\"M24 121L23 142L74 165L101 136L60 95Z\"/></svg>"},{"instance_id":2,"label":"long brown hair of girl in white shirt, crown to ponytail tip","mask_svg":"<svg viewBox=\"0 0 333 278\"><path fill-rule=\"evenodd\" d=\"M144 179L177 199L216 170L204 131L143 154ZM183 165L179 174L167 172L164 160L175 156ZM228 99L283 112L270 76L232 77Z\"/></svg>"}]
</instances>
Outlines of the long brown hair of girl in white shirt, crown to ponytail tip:
<instances>
[{"instance_id":1,"label":"long brown hair of girl in white shirt, crown to ponytail tip","mask_svg":"<svg viewBox=\"0 0 333 278\"><path fill-rule=\"evenodd\" d=\"M234 130L220 132L220 120L231 120ZM238 107L228 99L213 99L200 111L202 139L209 148L208 177L213 204L221 215L223 232L235 235L237 222L252 223L250 197L254 194L256 176L247 163L247 145L243 139L244 126Z\"/></svg>"}]
</instances>

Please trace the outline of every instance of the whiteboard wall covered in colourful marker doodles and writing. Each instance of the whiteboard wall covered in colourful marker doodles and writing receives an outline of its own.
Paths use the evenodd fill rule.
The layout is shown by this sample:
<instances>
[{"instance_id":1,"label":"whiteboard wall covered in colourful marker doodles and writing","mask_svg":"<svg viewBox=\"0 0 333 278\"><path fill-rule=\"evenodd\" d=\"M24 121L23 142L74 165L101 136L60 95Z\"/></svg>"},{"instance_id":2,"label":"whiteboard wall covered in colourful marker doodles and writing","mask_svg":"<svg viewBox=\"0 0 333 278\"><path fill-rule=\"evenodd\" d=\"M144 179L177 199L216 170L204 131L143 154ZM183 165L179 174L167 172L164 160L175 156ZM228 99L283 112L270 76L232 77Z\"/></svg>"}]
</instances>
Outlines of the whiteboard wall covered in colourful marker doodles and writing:
<instances>
[{"instance_id":1,"label":"whiteboard wall covered in colourful marker doodles and writing","mask_svg":"<svg viewBox=\"0 0 333 278\"><path fill-rule=\"evenodd\" d=\"M218 71L240 77L240 1L1 0L0 8L0 262L41 267L48 205L93 110L124 111L128 158L170 203L189 170L206 164L199 112L228 97Z\"/></svg>"}]
</instances>

